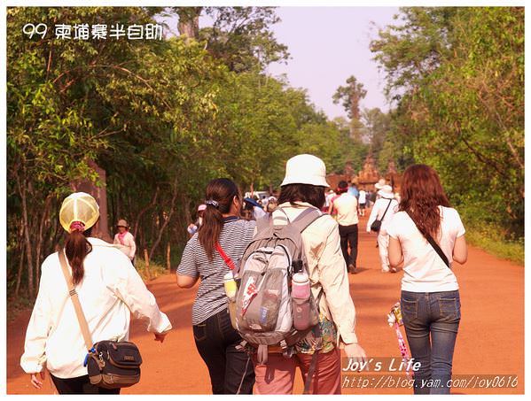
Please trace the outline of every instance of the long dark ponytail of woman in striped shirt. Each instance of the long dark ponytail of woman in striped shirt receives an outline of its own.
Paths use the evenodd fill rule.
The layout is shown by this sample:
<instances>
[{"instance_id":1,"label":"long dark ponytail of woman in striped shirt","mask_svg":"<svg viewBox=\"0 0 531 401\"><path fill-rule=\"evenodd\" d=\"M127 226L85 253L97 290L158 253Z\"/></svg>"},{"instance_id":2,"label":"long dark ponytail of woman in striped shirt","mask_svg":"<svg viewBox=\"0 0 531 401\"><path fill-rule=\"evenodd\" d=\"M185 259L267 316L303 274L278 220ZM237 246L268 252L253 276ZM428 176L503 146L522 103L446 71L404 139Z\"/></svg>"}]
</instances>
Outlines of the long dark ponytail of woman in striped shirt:
<instances>
[{"instance_id":1,"label":"long dark ponytail of woman in striped shirt","mask_svg":"<svg viewBox=\"0 0 531 401\"><path fill-rule=\"evenodd\" d=\"M199 243L207 253L210 261L214 258L215 243L223 228L223 214L230 212L230 204L234 197L238 197L241 204L241 193L233 181L228 178L216 178L208 182L205 191L207 210L203 215L203 224L199 227ZM210 201L217 203L211 204Z\"/></svg>"}]
</instances>

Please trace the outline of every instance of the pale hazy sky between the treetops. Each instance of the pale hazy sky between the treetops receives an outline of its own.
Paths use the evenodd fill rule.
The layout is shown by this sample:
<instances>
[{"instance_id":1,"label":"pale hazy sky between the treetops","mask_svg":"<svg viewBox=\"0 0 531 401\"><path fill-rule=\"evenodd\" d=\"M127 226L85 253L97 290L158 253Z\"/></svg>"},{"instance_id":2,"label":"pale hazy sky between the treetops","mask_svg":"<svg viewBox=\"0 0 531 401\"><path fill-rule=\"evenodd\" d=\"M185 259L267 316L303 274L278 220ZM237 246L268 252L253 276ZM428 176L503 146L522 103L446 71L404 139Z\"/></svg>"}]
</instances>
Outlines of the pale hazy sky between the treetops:
<instances>
[{"instance_id":1,"label":"pale hazy sky between the treetops","mask_svg":"<svg viewBox=\"0 0 531 401\"><path fill-rule=\"evenodd\" d=\"M384 75L372 61L369 43L377 37L379 27L394 22L398 7L277 7L276 12L282 21L272 30L277 41L288 47L291 58L287 64L269 66L267 73L286 74L291 86L308 89L309 100L330 119L347 117L340 104L332 103L332 95L350 75L367 90L362 109L388 110ZM177 34L176 18L160 20ZM199 19L199 27L211 24L206 16Z\"/></svg>"}]
</instances>

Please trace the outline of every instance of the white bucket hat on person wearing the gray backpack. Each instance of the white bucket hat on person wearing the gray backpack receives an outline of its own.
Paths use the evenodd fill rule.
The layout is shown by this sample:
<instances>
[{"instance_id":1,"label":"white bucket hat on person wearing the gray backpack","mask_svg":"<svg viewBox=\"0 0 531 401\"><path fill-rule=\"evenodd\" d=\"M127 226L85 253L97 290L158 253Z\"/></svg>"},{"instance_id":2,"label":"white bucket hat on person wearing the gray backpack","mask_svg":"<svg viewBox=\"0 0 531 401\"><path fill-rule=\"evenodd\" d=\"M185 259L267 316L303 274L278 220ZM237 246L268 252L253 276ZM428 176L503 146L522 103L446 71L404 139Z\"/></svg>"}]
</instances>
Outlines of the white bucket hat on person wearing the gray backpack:
<instances>
[{"instance_id":1,"label":"white bucket hat on person wearing the gray backpack","mask_svg":"<svg viewBox=\"0 0 531 401\"><path fill-rule=\"evenodd\" d=\"M330 187L326 182L324 161L313 155L297 155L285 164L285 177L281 187L288 184L310 184L318 187Z\"/></svg>"}]
</instances>

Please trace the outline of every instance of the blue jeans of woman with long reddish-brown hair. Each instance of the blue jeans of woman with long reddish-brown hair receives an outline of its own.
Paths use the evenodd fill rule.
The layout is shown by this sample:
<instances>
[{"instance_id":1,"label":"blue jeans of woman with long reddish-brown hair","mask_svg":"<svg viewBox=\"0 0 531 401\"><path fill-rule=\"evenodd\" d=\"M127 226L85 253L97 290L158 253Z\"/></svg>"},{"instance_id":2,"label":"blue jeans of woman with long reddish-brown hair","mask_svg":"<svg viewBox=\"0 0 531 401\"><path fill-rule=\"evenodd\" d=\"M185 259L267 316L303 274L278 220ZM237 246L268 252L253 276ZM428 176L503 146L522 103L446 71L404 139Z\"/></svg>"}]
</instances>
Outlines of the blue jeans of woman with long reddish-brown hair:
<instances>
[{"instance_id":1,"label":"blue jeans of woman with long reddish-brown hair","mask_svg":"<svg viewBox=\"0 0 531 401\"><path fill-rule=\"evenodd\" d=\"M459 291L402 291L400 305L411 357L421 364L415 372L414 393L449 394L461 320ZM428 384L430 380L433 382Z\"/></svg>"}]
</instances>

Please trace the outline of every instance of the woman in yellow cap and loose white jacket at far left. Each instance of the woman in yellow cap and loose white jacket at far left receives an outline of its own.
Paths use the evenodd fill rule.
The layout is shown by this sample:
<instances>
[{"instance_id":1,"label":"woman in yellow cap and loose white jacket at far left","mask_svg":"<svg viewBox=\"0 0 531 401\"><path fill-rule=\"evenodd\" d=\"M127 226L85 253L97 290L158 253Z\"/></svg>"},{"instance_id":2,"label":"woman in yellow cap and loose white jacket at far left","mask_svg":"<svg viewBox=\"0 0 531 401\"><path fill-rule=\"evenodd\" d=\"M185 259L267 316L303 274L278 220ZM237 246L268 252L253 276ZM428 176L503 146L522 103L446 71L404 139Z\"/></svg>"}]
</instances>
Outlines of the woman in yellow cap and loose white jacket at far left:
<instances>
[{"instance_id":1,"label":"woman in yellow cap and loose white jacket at far left","mask_svg":"<svg viewBox=\"0 0 531 401\"><path fill-rule=\"evenodd\" d=\"M162 343L172 328L135 267L112 244L90 237L99 208L89 194L77 192L63 201L59 221L65 228L66 261L71 269L82 311L93 343L128 341L132 314L147 323L147 331ZM46 366L59 394L118 394L90 384L83 360L87 349L68 292L65 276L54 252L43 262L39 291L27 325L20 366L31 383L42 389ZM39 379L38 375L41 378Z\"/></svg>"}]
</instances>

